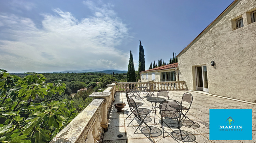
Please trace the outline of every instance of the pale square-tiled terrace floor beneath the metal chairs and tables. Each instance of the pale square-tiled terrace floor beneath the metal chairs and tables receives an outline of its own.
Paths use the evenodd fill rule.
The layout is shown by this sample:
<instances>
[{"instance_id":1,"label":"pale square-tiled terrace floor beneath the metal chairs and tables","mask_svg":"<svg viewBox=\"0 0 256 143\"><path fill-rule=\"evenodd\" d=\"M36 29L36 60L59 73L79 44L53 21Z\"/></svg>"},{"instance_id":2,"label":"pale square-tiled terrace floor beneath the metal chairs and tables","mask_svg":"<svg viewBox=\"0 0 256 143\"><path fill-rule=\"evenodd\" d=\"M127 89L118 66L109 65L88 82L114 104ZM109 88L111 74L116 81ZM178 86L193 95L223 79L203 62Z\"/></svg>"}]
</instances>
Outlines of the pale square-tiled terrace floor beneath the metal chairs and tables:
<instances>
[{"instance_id":1,"label":"pale square-tiled terrace floor beneath the metal chairs and tables","mask_svg":"<svg viewBox=\"0 0 256 143\"><path fill-rule=\"evenodd\" d=\"M150 114L150 117L147 117L145 122L152 127L151 133L149 132L144 124L137 130L136 134L133 134L135 129L138 127L138 122L136 120L132 121L132 123L127 127L134 116L126 119L128 115L126 115L130 109L128 106L128 102L125 96L125 93L116 93L115 101L113 102L113 106L111 108L111 112L109 115L109 127L108 131L104 133L103 143L166 143L166 142L198 142L198 143L226 143L226 142L237 142L237 143L252 143L256 142L256 105L249 104L241 101L236 101L232 99L212 96L209 94L203 94L193 91L169 91L170 97L169 99L174 99L181 102L182 95L185 92L189 92L193 95L193 102L190 110L187 113L187 116L195 122L194 125L191 125L191 121L183 118L181 130L183 134L184 140L182 141L179 137L179 134L176 132L179 131L177 129L177 124L174 127L168 128L164 124L164 135L165 138L162 138L162 128L160 128L160 115L159 109L156 112L156 122L154 124L154 115L155 113ZM157 92L155 92L157 94ZM134 96L132 96L134 99ZM146 96L143 95L143 98L135 99L136 102L143 102L144 105L141 108L152 109L151 102L146 100ZM125 102L127 104L124 108L124 113L117 112L114 104ZM159 104L158 104L159 105ZM252 117L252 132L253 132L253 140L242 140L242 141L218 141L218 140L209 140L209 109L252 109L253 117ZM169 119L170 120L170 119ZM170 120L174 123L175 120ZM190 126L191 125L191 126ZM176 126L176 127L175 127ZM187 136L185 135L188 134ZM122 134L123 137L118 138L117 135Z\"/></svg>"}]
</instances>

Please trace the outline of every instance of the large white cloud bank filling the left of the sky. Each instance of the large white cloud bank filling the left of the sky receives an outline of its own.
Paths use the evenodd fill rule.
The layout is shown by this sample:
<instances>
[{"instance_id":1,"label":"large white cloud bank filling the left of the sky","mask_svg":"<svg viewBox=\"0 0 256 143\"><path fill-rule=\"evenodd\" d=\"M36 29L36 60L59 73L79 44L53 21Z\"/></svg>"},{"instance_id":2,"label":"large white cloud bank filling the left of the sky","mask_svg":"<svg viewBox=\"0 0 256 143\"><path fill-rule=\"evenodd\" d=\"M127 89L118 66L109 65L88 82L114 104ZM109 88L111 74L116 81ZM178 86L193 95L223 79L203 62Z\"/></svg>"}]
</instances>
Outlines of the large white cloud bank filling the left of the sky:
<instances>
[{"instance_id":1,"label":"large white cloud bank filling the left of the sky","mask_svg":"<svg viewBox=\"0 0 256 143\"><path fill-rule=\"evenodd\" d=\"M84 3L94 8L94 17L77 20L70 12L54 9L55 15L42 14L42 29L29 18L0 13L0 29L10 39L0 39L0 68L9 72L127 69L129 57L115 48L131 38L126 25L109 5Z\"/></svg>"}]
</instances>

